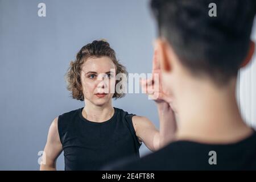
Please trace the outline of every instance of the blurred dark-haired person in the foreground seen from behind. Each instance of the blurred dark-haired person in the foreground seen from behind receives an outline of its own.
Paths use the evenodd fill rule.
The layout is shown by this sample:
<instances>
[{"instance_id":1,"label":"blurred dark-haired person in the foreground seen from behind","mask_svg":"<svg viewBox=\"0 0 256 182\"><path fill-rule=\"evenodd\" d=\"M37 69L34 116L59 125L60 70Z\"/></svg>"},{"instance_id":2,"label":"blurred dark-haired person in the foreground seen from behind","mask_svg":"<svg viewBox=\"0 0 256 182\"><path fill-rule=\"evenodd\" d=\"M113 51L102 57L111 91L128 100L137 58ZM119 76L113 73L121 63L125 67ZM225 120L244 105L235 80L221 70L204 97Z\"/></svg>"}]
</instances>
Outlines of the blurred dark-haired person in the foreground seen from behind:
<instances>
[{"instance_id":1,"label":"blurred dark-haired person in the foreground seen from behind","mask_svg":"<svg viewBox=\"0 0 256 182\"><path fill-rule=\"evenodd\" d=\"M217 16L208 15L216 3ZM253 56L254 0L151 1L162 84L178 113L175 141L114 170L256 169L256 133L236 101L238 70Z\"/></svg>"}]
</instances>

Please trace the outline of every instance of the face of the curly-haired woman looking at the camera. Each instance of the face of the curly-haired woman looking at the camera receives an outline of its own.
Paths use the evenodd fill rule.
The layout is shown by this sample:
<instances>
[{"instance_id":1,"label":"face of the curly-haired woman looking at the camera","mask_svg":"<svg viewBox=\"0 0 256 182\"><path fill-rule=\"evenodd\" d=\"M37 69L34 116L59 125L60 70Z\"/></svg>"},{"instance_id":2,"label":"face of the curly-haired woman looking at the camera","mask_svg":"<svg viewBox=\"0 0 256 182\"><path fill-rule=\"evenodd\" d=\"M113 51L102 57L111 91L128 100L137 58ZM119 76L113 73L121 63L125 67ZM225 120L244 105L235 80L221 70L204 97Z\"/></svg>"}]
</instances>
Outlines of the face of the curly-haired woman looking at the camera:
<instances>
[{"instance_id":1,"label":"face of the curly-haired woman looking at the camera","mask_svg":"<svg viewBox=\"0 0 256 182\"><path fill-rule=\"evenodd\" d=\"M112 100L115 92L115 64L107 57L88 58L81 68L84 99L102 106Z\"/></svg>"}]
</instances>

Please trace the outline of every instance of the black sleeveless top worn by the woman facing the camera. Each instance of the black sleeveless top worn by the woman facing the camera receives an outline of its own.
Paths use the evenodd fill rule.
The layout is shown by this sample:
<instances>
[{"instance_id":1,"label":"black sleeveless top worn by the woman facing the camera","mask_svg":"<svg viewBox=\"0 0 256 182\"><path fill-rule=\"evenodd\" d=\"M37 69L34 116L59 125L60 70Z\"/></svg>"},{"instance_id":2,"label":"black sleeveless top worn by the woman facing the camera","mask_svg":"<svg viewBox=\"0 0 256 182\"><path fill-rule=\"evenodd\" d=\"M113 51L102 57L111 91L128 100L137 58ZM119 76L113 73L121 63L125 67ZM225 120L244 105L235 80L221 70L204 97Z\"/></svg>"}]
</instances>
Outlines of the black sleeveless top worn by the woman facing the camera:
<instances>
[{"instance_id":1,"label":"black sleeveless top worn by the woman facing the camera","mask_svg":"<svg viewBox=\"0 0 256 182\"><path fill-rule=\"evenodd\" d=\"M85 119L82 109L59 115L65 170L98 170L123 158L139 158L141 143L131 120L135 114L114 107L113 117L98 123Z\"/></svg>"}]
</instances>

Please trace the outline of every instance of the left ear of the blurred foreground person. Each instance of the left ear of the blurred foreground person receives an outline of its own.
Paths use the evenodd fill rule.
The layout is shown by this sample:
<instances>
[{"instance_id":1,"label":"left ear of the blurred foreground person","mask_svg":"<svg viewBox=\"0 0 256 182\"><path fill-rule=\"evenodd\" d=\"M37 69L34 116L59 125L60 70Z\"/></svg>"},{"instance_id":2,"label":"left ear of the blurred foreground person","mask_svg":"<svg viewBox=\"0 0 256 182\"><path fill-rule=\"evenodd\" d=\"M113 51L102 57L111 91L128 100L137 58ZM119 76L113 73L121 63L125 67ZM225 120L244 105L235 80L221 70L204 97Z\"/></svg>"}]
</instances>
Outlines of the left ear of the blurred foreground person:
<instances>
[{"instance_id":1,"label":"left ear of the blurred foreground person","mask_svg":"<svg viewBox=\"0 0 256 182\"><path fill-rule=\"evenodd\" d=\"M155 49L158 51L158 59L160 62L160 69L163 72L170 72L171 71L171 60L167 55L168 53L168 43L163 39L156 39L155 41Z\"/></svg>"}]
</instances>

